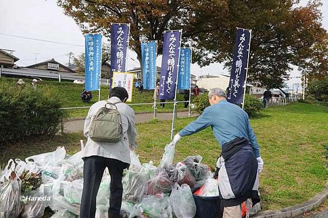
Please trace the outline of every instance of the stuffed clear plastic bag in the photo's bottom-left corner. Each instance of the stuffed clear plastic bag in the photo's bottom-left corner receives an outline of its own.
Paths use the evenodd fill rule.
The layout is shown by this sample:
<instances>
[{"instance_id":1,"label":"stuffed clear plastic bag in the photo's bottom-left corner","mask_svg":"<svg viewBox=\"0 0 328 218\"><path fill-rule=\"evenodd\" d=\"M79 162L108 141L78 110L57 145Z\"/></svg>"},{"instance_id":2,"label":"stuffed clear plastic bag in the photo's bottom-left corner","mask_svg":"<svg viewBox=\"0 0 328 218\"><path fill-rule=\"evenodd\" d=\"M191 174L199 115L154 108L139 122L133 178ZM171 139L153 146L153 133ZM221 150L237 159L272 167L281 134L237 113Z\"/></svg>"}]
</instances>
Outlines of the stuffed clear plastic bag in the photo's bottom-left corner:
<instances>
[{"instance_id":1,"label":"stuffed clear plastic bag in the photo's bottom-left corner","mask_svg":"<svg viewBox=\"0 0 328 218\"><path fill-rule=\"evenodd\" d=\"M22 182L15 173L12 173L9 180L0 185L0 217L16 218L23 209L23 202L20 201L20 188Z\"/></svg>"}]
</instances>

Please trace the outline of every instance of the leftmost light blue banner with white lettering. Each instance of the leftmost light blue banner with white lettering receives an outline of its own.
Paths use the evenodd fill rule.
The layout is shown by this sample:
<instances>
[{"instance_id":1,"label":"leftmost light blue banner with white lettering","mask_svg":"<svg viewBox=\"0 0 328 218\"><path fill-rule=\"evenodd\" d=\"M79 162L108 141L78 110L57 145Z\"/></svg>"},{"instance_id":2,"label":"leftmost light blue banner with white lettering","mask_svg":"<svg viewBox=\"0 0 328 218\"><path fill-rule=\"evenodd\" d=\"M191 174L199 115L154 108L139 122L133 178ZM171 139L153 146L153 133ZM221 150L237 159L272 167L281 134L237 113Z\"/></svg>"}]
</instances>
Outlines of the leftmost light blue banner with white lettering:
<instances>
[{"instance_id":1,"label":"leftmost light blue banner with white lettering","mask_svg":"<svg viewBox=\"0 0 328 218\"><path fill-rule=\"evenodd\" d=\"M86 71L85 89L87 91L99 90L101 74L101 35L86 34Z\"/></svg>"}]
</instances>

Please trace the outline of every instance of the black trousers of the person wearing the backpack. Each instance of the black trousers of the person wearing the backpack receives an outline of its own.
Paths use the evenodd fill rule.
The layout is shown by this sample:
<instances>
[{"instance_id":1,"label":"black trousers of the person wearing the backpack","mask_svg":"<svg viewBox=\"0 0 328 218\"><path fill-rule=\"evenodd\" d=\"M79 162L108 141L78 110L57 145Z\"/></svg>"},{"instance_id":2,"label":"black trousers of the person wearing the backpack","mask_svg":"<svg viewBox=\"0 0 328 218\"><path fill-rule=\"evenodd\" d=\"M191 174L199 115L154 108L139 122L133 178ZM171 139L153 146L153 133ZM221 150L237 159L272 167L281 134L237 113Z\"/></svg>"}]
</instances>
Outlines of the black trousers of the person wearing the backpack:
<instances>
[{"instance_id":1,"label":"black trousers of the person wearing the backpack","mask_svg":"<svg viewBox=\"0 0 328 218\"><path fill-rule=\"evenodd\" d=\"M96 197L106 167L111 176L109 218L118 218L122 204L122 173L129 164L101 156L84 158L83 192L80 204L80 218L94 218Z\"/></svg>"}]
</instances>

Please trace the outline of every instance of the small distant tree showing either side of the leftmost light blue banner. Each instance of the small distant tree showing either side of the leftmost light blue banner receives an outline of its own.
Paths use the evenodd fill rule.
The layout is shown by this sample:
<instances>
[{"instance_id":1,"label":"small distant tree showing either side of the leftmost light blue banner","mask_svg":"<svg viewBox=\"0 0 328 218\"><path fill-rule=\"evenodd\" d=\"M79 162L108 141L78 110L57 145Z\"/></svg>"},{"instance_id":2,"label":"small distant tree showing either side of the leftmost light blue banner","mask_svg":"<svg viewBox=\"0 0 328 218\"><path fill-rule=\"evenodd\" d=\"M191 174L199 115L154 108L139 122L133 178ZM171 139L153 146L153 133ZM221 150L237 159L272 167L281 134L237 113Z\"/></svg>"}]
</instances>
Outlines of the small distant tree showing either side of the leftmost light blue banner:
<instances>
[{"instance_id":1,"label":"small distant tree showing either side of the leftmost light blue banner","mask_svg":"<svg viewBox=\"0 0 328 218\"><path fill-rule=\"evenodd\" d=\"M101 65L105 63L110 63L111 60L111 48L110 44L103 44L102 48L102 54L101 54ZM86 69L86 56L85 53L81 53L77 55L77 57L73 58L73 62L76 65L75 71L79 74L85 74L85 69Z\"/></svg>"}]
</instances>

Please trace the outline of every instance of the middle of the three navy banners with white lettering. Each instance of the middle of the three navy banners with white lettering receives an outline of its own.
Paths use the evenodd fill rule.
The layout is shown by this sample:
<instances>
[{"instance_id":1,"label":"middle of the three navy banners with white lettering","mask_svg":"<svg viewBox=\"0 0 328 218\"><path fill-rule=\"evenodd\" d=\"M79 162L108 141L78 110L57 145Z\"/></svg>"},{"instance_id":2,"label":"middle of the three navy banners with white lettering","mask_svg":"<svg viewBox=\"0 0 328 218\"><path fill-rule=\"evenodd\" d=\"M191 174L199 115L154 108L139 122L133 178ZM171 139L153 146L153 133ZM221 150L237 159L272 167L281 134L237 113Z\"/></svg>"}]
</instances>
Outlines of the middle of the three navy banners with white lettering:
<instances>
[{"instance_id":1,"label":"middle of the three navy banners with white lettering","mask_svg":"<svg viewBox=\"0 0 328 218\"><path fill-rule=\"evenodd\" d=\"M175 83L177 82L181 43L180 36L180 30L164 33L159 99L172 100L175 97Z\"/></svg>"}]
</instances>

